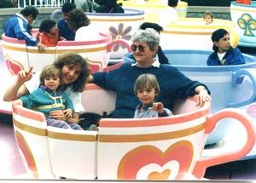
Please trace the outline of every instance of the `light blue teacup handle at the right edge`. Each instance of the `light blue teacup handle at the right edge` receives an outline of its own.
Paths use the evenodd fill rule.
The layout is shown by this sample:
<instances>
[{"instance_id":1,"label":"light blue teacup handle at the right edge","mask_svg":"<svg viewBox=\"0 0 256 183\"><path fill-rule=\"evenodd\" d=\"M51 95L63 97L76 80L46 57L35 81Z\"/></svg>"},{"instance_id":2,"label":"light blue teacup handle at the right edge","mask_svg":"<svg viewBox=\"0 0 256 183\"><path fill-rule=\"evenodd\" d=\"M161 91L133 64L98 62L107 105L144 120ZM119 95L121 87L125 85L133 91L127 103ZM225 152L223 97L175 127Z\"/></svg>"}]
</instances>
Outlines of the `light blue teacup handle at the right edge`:
<instances>
[{"instance_id":1,"label":"light blue teacup handle at the right edge","mask_svg":"<svg viewBox=\"0 0 256 183\"><path fill-rule=\"evenodd\" d=\"M241 84L243 81L244 76L250 78L253 84L253 94L248 100L244 100L241 102L234 102L227 104L227 107L240 107L240 106L247 106L251 104L256 98L256 70L252 68L248 69L241 69L232 74L232 85Z\"/></svg>"}]
</instances>

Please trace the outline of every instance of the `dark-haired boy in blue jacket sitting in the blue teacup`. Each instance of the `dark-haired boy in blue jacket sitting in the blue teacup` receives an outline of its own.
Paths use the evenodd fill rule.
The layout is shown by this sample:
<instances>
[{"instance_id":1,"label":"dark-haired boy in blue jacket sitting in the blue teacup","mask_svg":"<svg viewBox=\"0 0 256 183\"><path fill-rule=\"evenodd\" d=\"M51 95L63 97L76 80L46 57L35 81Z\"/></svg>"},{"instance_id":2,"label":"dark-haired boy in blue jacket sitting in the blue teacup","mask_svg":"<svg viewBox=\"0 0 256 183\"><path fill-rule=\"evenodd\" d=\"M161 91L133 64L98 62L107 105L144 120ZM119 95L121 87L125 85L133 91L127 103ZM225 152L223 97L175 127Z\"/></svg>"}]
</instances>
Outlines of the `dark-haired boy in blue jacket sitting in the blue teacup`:
<instances>
[{"instance_id":1,"label":"dark-haired boy in blue jacket sitting in the blue teacup","mask_svg":"<svg viewBox=\"0 0 256 183\"><path fill-rule=\"evenodd\" d=\"M207 59L207 66L229 66L245 64L240 49L230 45L230 33L218 29L212 33L212 49L214 52Z\"/></svg>"}]
</instances>

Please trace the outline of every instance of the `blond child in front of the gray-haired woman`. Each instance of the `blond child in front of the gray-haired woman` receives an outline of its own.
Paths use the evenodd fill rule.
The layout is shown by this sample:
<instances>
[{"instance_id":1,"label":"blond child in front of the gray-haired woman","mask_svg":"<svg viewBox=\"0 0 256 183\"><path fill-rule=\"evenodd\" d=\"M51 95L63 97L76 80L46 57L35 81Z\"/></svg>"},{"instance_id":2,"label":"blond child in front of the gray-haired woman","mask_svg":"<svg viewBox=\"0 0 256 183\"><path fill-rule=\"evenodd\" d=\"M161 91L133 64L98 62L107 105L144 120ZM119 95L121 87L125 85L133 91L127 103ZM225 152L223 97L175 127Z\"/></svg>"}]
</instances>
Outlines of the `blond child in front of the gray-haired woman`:
<instances>
[{"instance_id":1,"label":"blond child in front of the gray-haired woman","mask_svg":"<svg viewBox=\"0 0 256 183\"><path fill-rule=\"evenodd\" d=\"M134 118L172 116L172 112L164 108L161 102L155 102L157 95L160 94L160 86L153 74L142 74L137 77L134 93L142 102L137 106Z\"/></svg>"}]
</instances>

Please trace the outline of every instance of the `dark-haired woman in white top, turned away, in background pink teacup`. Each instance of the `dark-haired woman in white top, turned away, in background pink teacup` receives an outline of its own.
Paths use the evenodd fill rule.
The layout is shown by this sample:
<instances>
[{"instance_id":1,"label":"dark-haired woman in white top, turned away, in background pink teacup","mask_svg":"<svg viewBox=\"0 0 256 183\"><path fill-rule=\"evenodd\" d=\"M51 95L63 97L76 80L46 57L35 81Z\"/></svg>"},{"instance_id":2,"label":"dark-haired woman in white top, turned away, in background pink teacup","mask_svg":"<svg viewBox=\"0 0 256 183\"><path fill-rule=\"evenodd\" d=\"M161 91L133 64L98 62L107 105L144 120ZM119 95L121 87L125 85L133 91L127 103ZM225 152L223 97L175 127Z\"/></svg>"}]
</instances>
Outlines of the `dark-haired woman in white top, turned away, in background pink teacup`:
<instances>
[{"instance_id":1,"label":"dark-haired woman in white top, turned away, in background pink teacup","mask_svg":"<svg viewBox=\"0 0 256 183\"><path fill-rule=\"evenodd\" d=\"M90 25L90 19L79 9L74 9L68 15L68 26L75 32L75 41L92 41L101 36L96 27Z\"/></svg>"}]
</instances>

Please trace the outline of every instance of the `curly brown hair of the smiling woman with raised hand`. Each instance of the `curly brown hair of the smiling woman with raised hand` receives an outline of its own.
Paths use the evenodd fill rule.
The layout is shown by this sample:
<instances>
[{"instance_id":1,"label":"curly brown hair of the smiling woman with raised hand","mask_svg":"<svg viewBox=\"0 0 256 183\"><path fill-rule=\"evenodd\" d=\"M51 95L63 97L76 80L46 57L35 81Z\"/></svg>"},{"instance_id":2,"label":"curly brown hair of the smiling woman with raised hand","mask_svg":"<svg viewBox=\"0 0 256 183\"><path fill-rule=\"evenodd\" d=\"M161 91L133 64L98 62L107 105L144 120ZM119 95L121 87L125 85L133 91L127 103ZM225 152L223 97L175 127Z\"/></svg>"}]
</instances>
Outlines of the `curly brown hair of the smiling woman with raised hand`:
<instances>
[{"instance_id":1,"label":"curly brown hair of the smiling woman with raised hand","mask_svg":"<svg viewBox=\"0 0 256 183\"><path fill-rule=\"evenodd\" d=\"M70 83L69 85L72 86L74 92L84 91L85 83L87 82L87 79L90 76L90 67L88 62L80 54L71 52L60 54L59 57L53 63L53 65L61 69L63 66L81 66L81 72L79 74L79 77L76 81Z\"/></svg>"}]
</instances>

